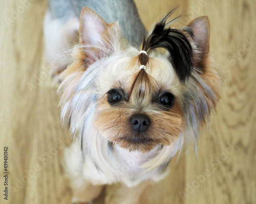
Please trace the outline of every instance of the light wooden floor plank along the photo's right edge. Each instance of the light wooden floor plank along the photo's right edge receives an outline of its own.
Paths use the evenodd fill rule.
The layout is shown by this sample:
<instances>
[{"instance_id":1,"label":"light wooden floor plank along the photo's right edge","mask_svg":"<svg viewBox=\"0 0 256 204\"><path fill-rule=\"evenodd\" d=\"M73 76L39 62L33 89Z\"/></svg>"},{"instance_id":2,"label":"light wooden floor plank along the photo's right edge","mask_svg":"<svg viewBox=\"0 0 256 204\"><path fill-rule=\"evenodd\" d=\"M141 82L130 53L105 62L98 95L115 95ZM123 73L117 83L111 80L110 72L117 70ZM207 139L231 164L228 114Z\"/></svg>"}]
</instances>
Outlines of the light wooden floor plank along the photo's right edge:
<instances>
[{"instance_id":1,"label":"light wooden floor plank along the photo's right edge","mask_svg":"<svg viewBox=\"0 0 256 204\"><path fill-rule=\"evenodd\" d=\"M189 3L192 8L198 1ZM186 156L186 187L194 188L185 203L255 203L255 6L207 1L198 13L209 16L211 54L226 79L217 115L202 132L198 160ZM201 176L197 187L200 175L205 180Z\"/></svg>"}]
</instances>

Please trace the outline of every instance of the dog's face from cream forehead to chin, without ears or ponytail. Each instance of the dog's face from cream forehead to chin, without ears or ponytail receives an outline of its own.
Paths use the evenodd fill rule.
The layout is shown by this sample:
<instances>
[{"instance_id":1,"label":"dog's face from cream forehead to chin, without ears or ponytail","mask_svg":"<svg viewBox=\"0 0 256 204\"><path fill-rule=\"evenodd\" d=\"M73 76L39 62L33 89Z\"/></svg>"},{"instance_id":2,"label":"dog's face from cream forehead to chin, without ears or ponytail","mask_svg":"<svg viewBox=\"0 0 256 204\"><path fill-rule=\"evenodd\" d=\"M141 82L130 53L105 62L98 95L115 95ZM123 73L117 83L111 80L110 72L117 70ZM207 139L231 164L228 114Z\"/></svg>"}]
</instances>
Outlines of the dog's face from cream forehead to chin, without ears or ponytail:
<instances>
[{"instance_id":1,"label":"dog's face from cream forehead to chin, without ears or ponytail","mask_svg":"<svg viewBox=\"0 0 256 204\"><path fill-rule=\"evenodd\" d=\"M139 68L138 50L119 55L121 60L109 59L99 73L102 97L95 112L96 128L129 150L145 152L159 144L170 145L183 123L181 85L172 64L160 55L149 58L144 71Z\"/></svg>"}]
</instances>

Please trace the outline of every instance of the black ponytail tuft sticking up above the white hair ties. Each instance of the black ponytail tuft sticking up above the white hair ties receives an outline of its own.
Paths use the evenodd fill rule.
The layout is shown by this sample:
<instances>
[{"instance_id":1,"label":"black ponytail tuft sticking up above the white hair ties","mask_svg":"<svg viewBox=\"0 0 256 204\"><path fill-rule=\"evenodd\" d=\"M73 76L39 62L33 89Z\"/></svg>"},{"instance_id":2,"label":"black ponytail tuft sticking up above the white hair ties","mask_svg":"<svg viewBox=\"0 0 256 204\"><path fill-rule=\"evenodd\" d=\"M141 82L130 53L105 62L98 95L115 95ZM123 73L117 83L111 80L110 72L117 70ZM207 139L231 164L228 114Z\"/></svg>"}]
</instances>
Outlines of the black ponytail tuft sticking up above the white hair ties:
<instances>
[{"instance_id":1,"label":"black ponytail tuft sticking up above the white hair ties","mask_svg":"<svg viewBox=\"0 0 256 204\"><path fill-rule=\"evenodd\" d=\"M147 52L159 47L166 49L169 53L169 61L172 63L179 79L184 82L193 69L193 53L192 47L182 31L166 28L166 25L179 19L180 16L166 22L175 10L176 8L169 11L156 23L152 32L144 37L142 50Z\"/></svg>"}]
</instances>

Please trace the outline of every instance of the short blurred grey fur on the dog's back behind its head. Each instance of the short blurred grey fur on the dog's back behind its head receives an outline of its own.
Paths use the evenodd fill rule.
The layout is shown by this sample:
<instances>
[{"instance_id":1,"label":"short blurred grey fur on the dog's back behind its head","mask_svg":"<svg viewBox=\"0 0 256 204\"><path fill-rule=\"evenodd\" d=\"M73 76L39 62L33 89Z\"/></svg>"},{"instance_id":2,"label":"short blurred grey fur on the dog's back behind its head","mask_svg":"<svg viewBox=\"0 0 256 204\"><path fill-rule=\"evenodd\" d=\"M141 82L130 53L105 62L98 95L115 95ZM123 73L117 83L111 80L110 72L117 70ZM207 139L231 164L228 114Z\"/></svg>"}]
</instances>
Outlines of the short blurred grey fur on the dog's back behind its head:
<instances>
[{"instance_id":1,"label":"short blurred grey fur on the dog's back behind its head","mask_svg":"<svg viewBox=\"0 0 256 204\"><path fill-rule=\"evenodd\" d=\"M74 13L79 17L84 6L94 10L108 23L118 20L124 37L134 46L141 44L146 29L133 0L49 0L52 17L63 20Z\"/></svg>"}]
</instances>

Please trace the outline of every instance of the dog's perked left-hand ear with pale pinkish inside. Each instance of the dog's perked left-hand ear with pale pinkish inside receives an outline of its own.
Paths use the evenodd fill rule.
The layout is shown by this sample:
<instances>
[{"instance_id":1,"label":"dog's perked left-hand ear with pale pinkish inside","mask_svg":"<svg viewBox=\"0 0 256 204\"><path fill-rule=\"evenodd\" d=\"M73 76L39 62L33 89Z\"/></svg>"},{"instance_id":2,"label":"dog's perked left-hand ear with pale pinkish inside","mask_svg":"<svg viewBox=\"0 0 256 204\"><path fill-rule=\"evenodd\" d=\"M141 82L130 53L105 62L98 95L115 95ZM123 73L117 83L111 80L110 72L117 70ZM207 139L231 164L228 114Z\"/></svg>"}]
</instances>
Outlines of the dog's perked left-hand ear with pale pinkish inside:
<instances>
[{"instance_id":1,"label":"dog's perked left-hand ear with pale pinkish inside","mask_svg":"<svg viewBox=\"0 0 256 204\"><path fill-rule=\"evenodd\" d=\"M80 15L79 44L87 60L96 61L113 53L119 24L106 23L96 12L83 7Z\"/></svg>"}]
</instances>

